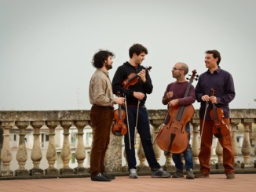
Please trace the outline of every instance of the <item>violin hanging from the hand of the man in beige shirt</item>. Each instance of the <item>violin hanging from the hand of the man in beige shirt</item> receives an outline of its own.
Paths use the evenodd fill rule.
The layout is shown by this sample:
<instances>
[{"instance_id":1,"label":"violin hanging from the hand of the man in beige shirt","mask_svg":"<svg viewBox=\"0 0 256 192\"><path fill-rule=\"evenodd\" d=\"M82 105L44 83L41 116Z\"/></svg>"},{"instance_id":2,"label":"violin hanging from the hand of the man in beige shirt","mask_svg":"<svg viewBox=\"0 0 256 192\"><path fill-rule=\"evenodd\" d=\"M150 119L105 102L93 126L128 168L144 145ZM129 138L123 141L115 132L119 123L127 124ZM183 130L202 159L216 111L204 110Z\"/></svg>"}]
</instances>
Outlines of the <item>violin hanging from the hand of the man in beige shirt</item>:
<instances>
[{"instance_id":1,"label":"violin hanging from the hand of the man in beige shirt","mask_svg":"<svg viewBox=\"0 0 256 192\"><path fill-rule=\"evenodd\" d=\"M120 96L120 92L117 92L117 96ZM119 108L114 110L115 123L112 125L112 133L115 136L124 136L127 132L127 127L124 123L126 111L123 110L121 106L122 105L119 105Z\"/></svg>"}]
</instances>

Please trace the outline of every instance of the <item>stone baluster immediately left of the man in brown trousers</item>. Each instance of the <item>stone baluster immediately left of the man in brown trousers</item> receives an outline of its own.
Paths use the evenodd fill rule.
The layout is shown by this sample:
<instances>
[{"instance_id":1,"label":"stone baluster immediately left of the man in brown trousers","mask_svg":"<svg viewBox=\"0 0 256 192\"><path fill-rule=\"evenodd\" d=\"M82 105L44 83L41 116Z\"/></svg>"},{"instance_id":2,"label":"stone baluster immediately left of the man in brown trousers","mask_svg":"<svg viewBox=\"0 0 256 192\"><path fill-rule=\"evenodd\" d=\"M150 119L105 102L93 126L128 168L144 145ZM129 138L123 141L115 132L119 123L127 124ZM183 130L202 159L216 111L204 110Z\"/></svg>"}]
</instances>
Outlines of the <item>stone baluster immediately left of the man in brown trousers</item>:
<instances>
[{"instance_id":1,"label":"stone baluster immediately left of the man in brown trousers","mask_svg":"<svg viewBox=\"0 0 256 192\"><path fill-rule=\"evenodd\" d=\"M74 170L75 174L84 174L86 173L86 168L83 166L84 160L86 159L86 148L83 143L83 129L88 125L88 121L75 121L74 124L78 129L78 143L75 150L75 159L78 166Z\"/></svg>"}]
</instances>

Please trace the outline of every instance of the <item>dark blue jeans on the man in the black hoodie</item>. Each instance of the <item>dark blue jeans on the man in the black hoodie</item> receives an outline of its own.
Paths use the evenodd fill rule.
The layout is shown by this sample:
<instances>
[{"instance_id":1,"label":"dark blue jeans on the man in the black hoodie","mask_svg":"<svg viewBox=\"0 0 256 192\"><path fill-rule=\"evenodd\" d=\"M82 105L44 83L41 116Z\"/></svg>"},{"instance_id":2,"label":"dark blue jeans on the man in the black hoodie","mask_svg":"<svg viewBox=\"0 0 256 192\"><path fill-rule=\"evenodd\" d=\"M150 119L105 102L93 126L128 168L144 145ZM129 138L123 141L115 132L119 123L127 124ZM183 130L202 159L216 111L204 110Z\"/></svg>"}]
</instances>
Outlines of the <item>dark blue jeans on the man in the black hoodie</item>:
<instances>
[{"instance_id":1,"label":"dark blue jeans on the man in the black hoodie","mask_svg":"<svg viewBox=\"0 0 256 192\"><path fill-rule=\"evenodd\" d=\"M145 107L140 107L138 110L137 118L137 107L127 107L128 110L128 121L130 129L130 141L129 133L127 132L124 137L126 158L128 162L128 168L137 169L137 161L134 149L134 132L137 120L137 132L140 134L142 147L144 149L145 157L148 161L148 165L152 170L159 169L161 166L156 161L155 152L152 145L152 136L150 134L150 126L148 121L148 112ZM131 149L130 149L131 144Z\"/></svg>"}]
</instances>

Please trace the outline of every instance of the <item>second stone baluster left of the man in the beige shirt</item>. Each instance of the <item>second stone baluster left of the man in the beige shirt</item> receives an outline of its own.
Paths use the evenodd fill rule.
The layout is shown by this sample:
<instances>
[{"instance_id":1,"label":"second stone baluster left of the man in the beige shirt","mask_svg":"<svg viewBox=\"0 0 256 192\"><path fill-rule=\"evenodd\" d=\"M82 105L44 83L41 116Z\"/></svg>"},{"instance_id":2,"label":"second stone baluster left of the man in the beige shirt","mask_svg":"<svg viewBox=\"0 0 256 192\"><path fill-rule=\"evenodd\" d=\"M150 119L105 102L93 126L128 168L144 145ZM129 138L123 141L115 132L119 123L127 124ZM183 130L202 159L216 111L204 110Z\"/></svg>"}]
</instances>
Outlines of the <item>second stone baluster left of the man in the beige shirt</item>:
<instances>
[{"instance_id":1,"label":"second stone baluster left of the man in the beige shirt","mask_svg":"<svg viewBox=\"0 0 256 192\"><path fill-rule=\"evenodd\" d=\"M69 161L71 160L71 149L70 149L70 143L69 143L69 129L71 125L73 124L73 121L60 121L60 125L63 127L63 145L60 152L60 156L63 162L63 167L60 168L60 174L66 175L66 174L74 174L73 168L69 167Z\"/></svg>"}]
</instances>

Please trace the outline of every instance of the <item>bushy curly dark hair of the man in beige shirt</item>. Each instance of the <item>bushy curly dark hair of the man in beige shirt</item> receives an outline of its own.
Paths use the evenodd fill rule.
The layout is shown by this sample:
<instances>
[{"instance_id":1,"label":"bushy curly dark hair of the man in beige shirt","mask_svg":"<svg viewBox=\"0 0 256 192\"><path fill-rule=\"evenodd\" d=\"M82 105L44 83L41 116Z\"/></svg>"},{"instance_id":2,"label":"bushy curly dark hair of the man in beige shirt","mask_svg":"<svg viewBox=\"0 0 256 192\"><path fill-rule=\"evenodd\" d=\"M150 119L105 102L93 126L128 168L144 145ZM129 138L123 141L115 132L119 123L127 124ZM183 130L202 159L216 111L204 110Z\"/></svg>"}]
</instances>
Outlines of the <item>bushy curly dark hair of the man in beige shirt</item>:
<instances>
[{"instance_id":1,"label":"bushy curly dark hair of the man in beige shirt","mask_svg":"<svg viewBox=\"0 0 256 192\"><path fill-rule=\"evenodd\" d=\"M108 60L108 56L115 57L115 54L108 51L108 50L99 50L97 53L94 54L92 64L93 67L101 68L103 67L103 63L105 60Z\"/></svg>"}]
</instances>

